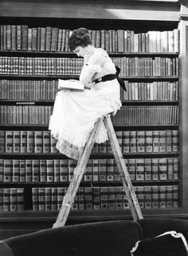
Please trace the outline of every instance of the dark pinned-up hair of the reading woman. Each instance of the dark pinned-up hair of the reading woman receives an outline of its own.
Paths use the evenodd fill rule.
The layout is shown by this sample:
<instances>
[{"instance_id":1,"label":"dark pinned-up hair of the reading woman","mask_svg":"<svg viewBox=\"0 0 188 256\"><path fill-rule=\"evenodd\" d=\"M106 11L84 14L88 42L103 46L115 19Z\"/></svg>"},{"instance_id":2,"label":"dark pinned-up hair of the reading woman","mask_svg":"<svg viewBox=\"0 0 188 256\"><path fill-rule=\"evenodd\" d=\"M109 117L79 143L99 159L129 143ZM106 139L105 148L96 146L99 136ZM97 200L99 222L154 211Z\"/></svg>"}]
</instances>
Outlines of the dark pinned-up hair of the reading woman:
<instances>
[{"instance_id":1,"label":"dark pinned-up hair of the reading woman","mask_svg":"<svg viewBox=\"0 0 188 256\"><path fill-rule=\"evenodd\" d=\"M73 30L69 38L69 48L71 51L75 50L77 46L85 47L91 44L92 40L86 28L80 27L77 30Z\"/></svg>"}]
</instances>

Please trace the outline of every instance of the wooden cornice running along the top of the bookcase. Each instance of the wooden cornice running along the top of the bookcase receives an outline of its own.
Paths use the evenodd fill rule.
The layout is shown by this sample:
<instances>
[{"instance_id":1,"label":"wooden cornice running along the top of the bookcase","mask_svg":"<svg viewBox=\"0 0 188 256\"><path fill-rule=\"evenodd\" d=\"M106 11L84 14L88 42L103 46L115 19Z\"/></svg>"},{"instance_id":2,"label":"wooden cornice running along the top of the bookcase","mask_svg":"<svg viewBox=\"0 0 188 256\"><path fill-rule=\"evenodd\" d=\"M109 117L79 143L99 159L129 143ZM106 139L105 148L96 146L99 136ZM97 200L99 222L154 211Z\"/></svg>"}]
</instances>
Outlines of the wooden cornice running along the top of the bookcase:
<instances>
[{"instance_id":1,"label":"wooden cornice running along the top of the bookcase","mask_svg":"<svg viewBox=\"0 0 188 256\"><path fill-rule=\"evenodd\" d=\"M13 12L14 10L14 12ZM153 1L103 2L71 1L1 1L0 17L32 18L95 18L149 21L177 21L180 7L177 2Z\"/></svg>"}]
</instances>

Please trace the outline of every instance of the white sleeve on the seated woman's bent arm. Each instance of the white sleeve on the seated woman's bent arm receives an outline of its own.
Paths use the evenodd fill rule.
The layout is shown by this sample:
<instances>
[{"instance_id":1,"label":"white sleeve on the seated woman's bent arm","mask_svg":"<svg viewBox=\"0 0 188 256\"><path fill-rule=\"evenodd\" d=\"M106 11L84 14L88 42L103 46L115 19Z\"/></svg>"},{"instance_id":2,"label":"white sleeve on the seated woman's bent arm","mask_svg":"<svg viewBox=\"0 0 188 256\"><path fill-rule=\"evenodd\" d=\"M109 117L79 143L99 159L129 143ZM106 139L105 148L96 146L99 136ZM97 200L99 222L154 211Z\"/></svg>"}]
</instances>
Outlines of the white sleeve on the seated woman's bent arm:
<instances>
[{"instance_id":1,"label":"white sleeve on the seated woman's bent arm","mask_svg":"<svg viewBox=\"0 0 188 256\"><path fill-rule=\"evenodd\" d=\"M96 73L101 72L101 67L104 65L105 56L103 54L93 54L89 59L87 64L84 64L83 69L80 73L80 82L83 82L84 85L88 82L92 82L92 77Z\"/></svg>"}]
</instances>

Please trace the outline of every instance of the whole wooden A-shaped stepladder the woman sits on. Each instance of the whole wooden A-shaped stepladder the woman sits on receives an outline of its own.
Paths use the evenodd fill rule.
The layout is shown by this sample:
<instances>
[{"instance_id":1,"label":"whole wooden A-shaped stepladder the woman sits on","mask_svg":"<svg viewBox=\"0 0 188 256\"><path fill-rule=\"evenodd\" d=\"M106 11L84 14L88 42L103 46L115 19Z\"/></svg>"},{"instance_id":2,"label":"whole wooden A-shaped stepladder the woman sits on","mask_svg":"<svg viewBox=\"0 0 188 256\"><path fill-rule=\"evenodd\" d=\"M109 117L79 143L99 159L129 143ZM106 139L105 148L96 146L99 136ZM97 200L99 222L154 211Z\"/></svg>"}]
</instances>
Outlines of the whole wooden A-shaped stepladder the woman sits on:
<instances>
[{"instance_id":1,"label":"whole wooden A-shaped stepladder the woman sits on","mask_svg":"<svg viewBox=\"0 0 188 256\"><path fill-rule=\"evenodd\" d=\"M103 116L102 118L99 118L96 121L94 129L92 130L88 138L88 142L84 146L84 150L80 155L80 158L78 159L77 166L74 169L74 173L72 175L72 180L69 183L69 188L67 190L67 193L65 194L65 197L61 205L61 209L57 216L56 222L53 224L53 227L65 226L65 222L69 216L69 212L74 202L76 192L80 186L81 179L84 175L84 171L88 163L88 158L92 153L92 148L96 141L97 134L100 131L100 126L102 125L103 122L104 122L104 126L108 131L108 138L111 142L112 151L116 159L116 165L119 169L119 175L123 182L123 188L127 195L127 200L131 209L131 214L133 216L133 219L137 220L137 219L143 218L143 214L140 210L139 202L136 197L134 187L132 186L132 183L131 183L131 178L127 171L127 166L125 165L125 162L123 159L123 154L119 148L119 142L116 138L116 133L112 125L110 115L106 115L106 116Z\"/></svg>"}]
</instances>

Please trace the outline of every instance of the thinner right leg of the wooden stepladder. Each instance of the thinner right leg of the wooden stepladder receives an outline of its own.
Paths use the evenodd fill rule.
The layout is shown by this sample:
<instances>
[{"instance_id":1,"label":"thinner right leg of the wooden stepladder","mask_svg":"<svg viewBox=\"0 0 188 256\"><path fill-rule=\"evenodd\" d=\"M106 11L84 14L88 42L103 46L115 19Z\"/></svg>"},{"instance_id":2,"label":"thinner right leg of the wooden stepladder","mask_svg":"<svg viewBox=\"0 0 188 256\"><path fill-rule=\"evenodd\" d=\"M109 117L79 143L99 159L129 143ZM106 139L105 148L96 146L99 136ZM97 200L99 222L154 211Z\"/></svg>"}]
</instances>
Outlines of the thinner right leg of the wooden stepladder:
<instances>
[{"instance_id":1,"label":"thinner right leg of the wooden stepladder","mask_svg":"<svg viewBox=\"0 0 188 256\"><path fill-rule=\"evenodd\" d=\"M116 133L114 130L114 127L112 126L112 121L110 119L110 116L104 117L104 125L106 126L108 130L108 137L112 145L112 150L116 159L116 164L119 169L120 177L123 182L123 188L125 190L125 193L127 195L127 200L129 202L130 208L131 208L131 214L134 218L134 220L137 220L138 218L143 218L143 214L139 207L138 199L135 195L134 187L131 183L131 178L127 171L127 166L125 165L123 154L119 148L119 142L116 138Z\"/></svg>"}]
</instances>

